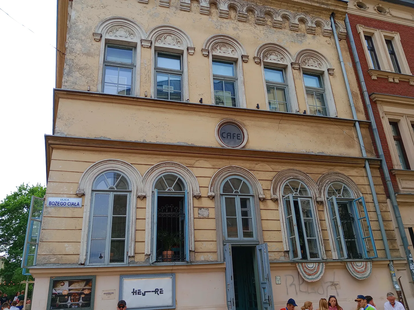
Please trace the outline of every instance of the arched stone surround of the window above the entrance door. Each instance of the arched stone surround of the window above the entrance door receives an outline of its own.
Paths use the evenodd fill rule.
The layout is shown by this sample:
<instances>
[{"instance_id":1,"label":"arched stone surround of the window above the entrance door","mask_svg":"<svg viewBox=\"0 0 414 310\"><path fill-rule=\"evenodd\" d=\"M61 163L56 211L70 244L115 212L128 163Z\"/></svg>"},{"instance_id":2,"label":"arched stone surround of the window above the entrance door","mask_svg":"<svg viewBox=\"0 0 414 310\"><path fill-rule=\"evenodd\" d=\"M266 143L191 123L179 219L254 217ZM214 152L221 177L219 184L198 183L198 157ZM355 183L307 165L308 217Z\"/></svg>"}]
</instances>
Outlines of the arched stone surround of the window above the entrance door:
<instances>
[{"instance_id":1,"label":"arched stone surround of the window above the entrance door","mask_svg":"<svg viewBox=\"0 0 414 310\"><path fill-rule=\"evenodd\" d=\"M217 234L217 261L224 261L223 253L223 222L221 217L221 199L220 188L223 181L229 176L240 176L249 182L253 190L253 202L256 221L256 230L259 243L263 243L262 220L260 216L260 201L265 199L262 185L255 177L255 175L248 169L240 166L226 166L217 170L210 179L208 197L214 199L214 211L216 214L216 234Z\"/></svg>"}]
</instances>

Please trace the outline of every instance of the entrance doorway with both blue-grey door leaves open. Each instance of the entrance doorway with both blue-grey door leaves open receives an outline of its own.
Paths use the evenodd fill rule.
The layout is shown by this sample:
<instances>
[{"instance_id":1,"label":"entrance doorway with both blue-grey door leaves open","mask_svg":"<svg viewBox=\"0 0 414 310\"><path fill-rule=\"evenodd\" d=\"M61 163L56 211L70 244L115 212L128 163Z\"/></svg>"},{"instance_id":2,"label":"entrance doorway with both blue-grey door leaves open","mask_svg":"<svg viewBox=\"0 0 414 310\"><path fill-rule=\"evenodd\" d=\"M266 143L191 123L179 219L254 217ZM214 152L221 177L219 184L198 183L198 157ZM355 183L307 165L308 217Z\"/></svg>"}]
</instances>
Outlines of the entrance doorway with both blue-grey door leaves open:
<instances>
[{"instance_id":1,"label":"entrance doorway with both blue-grey door leaves open","mask_svg":"<svg viewBox=\"0 0 414 310\"><path fill-rule=\"evenodd\" d=\"M231 246L229 243L224 245L226 300L229 310L274 310L267 243L252 249L254 251L250 252L248 247ZM244 252L248 255L237 255ZM248 260L249 265L255 267L250 266L250 270L246 264L246 268L243 268L243 260ZM243 276L246 275L247 281L243 281Z\"/></svg>"}]
</instances>

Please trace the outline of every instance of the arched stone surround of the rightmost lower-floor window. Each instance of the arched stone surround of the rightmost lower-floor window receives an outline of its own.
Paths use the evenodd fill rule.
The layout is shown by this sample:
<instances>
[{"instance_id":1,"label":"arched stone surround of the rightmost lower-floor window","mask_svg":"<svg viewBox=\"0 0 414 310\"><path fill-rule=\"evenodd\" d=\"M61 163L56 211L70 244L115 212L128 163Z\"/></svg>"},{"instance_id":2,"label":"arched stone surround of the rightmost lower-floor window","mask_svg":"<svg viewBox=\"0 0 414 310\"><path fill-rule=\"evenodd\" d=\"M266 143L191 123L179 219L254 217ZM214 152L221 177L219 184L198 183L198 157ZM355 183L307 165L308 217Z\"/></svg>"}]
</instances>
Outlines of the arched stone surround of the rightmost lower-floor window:
<instances>
[{"instance_id":1,"label":"arched stone surround of the rightmost lower-floor window","mask_svg":"<svg viewBox=\"0 0 414 310\"><path fill-rule=\"evenodd\" d=\"M348 186L349 189L352 191L354 198L358 198L362 196L361 190L359 189L358 185L356 185L356 183L349 176L346 176L345 174L342 174L336 171L327 172L323 174L322 176L319 177L317 184L318 184L318 189L319 189L318 193L319 193L320 201L323 203L323 212L325 214L325 219L330 219L330 215L328 211L329 205L328 205L328 200L327 200L327 189L328 189L328 186L332 184L333 182L344 183L346 186ZM335 236L333 234L334 228L332 227L332 223L330 220L326 221L326 227L328 230L330 247L332 249L332 258L338 259Z\"/></svg>"}]
</instances>

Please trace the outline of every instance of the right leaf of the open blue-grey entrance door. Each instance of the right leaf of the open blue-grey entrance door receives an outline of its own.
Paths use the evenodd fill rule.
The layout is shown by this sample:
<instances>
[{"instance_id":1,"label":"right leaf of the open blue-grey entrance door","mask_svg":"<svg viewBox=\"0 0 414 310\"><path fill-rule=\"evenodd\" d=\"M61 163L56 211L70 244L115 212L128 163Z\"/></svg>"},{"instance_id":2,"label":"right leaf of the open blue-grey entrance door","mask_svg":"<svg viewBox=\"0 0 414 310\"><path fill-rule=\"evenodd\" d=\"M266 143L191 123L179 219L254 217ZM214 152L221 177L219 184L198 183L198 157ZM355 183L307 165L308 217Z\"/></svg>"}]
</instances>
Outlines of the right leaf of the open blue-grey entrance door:
<instances>
[{"instance_id":1,"label":"right leaf of the open blue-grey entrance door","mask_svg":"<svg viewBox=\"0 0 414 310\"><path fill-rule=\"evenodd\" d=\"M262 243L256 246L256 259L258 262L262 310L274 310L272 277L270 276L270 262L267 252L267 243Z\"/></svg>"}]
</instances>

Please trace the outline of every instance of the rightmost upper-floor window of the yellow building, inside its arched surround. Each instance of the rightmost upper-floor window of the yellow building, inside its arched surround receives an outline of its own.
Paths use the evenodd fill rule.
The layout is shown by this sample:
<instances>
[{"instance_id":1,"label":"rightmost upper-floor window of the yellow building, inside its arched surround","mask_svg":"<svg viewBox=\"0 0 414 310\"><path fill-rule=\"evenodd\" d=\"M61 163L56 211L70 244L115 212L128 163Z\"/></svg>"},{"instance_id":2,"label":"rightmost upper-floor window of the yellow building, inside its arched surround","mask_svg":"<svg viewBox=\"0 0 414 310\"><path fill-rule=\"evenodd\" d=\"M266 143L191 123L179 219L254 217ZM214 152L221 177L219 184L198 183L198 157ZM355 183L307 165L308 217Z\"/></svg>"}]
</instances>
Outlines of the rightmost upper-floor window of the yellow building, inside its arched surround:
<instances>
[{"instance_id":1,"label":"rightmost upper-floor window of the yellow building, inside its arched surround","mask_svg":"<svg viewBox=\"0 0 414 310\"><path fill-rule=\"evenodd\" d=\"M328 115L328 108L325 100L325 88L320 74L303 72L303 81L306 88L306 99L309 113L313 115Z\"/></svg>"}]
</instances>

